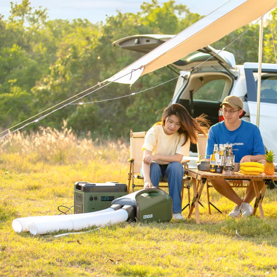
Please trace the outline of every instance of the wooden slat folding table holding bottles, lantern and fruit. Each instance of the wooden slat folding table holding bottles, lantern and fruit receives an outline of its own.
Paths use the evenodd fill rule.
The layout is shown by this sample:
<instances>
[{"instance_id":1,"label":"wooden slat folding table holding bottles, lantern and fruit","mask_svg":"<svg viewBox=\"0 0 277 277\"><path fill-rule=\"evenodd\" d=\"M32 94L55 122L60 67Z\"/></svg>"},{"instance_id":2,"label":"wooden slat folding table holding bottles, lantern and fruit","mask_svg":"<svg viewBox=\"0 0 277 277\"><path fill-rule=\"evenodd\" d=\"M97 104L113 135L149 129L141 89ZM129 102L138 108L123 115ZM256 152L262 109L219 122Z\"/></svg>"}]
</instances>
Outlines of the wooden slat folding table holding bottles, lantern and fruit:
<instances>
[{"instance_id":1,"label":"wooden slat folding table holding bottles, lantern and fruit","mask_svg":"<svg viewBox=\"0 0 277 277\"><path fill-rule=\"evenodd\" d=\"M253 208L252 215L255 215L257 211L257 207L259 207L260 215L262 218L264 218L263 214L263 207L262 207L262 202L263 202L263 196L265 194L265 191L267 189L267 185L270 181L276 181L277 180L277 174L275 173L274 175L265 175L260 174L260 175L244 175L239 172L235 172L234 175L224 175L224 174L219 174L219 173L213 173L209 171L200 171L197 169L185 169L185 174L192 179L192 184L193 184L193 193L194 193L194 198L191 202L191 207L188 213L188 218L191 217L191 214L193 212L193 209L195 208L195 218L196 218L196 223L200 223L200 218L199 218L199 198L201 196L203 187L208 180L245 180L245 181L252 181L253 186L254 186L254 191L255 191L255 204ZM259 192L258 186L257 186L257 181L263 181L264 186Z\"/></svg>"}]
</instances>

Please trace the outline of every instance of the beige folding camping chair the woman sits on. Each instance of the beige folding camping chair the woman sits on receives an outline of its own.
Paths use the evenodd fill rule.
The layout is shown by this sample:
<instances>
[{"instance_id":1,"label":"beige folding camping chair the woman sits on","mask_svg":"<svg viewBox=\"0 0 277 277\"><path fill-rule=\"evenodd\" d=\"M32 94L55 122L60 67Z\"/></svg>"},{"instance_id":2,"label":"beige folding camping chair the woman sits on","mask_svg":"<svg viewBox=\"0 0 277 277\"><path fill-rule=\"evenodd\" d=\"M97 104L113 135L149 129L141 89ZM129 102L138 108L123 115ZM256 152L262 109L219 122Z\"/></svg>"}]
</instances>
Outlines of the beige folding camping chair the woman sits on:
<instances>
[{"instance_id":1,"label":"beige folding camping chair the woman sits on","mask_svg":"<svg viewBox=\"0 0 277 277\"><path fill-rule=\"evenodd\" d=\"M134 184L134 179L143 179L143 177L140 176L140 169L141 169L142 160L143 160L143 151L141 149L144 143L145 135L146 135L146 132L133 132L132 129L130 130L130 159L128 159L128 162L130 162L130 171L128 173L128 193L130 193L131 182L132 182L132 192L134 192L135 187L143 187L143 185ZM189 162L189 160L182 161L184 166L187 164L187 162ZM186 177L186 176L183 177L183 188L181 193L182 201L183 201L184 188L187 188L188 190L188 203L185 206L185 208L189 207L189 204L190 204L189 180L190 180L190 177ZM185 186L185 181L187 181L186 186ZM167 183L167 182L160 181L160 183ZM168 184L159 185L159 187L168 187Z\"/></svg>"}]
</instances>

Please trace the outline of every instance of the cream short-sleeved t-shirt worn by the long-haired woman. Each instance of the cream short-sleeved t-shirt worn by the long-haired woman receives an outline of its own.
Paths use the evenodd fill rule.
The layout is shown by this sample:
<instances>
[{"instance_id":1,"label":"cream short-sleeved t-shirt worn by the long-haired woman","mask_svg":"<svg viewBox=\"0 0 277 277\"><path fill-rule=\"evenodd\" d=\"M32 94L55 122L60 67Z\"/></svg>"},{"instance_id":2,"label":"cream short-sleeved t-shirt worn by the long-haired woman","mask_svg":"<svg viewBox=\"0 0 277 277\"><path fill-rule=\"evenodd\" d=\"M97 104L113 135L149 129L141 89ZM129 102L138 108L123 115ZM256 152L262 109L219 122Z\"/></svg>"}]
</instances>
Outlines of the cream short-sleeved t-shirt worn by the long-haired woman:
<instances>
[{"instance_id":1,"label":"cream short-sleeved t-shirt worn by the long-haired woman","mask_svg":"<svg viewBox=\"0 0 277 277\"><path fill-rule=\"evenodd\" d=\"M190 140L182 146L185 142L185 135L175 132L167 135L162 125L154 125L146 133L142 150L149 150L153 155L175 155L181 154L189 156ZM156 161L159 164L168 164L168 162Z\"/></svg>"}]
</instances>

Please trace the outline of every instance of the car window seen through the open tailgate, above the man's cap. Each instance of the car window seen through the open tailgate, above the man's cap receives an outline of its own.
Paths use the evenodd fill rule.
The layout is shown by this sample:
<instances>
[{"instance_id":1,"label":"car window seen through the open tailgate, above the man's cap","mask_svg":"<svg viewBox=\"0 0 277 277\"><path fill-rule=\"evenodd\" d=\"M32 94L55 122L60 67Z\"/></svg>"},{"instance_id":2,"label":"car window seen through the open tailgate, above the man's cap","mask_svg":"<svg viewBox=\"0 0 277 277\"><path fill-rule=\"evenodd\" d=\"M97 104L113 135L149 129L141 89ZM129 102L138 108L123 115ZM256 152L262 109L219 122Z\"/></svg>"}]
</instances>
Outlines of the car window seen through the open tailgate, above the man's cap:
<instances>
[{"instance_id":1,"label":"car window seen through the open tailgate, above the man's cap","mask_svg":"<svg viewBox=\"0 0 277 277\"><path fill-rule=\"evenodd\" d=\"M220 101L225 86L224 79L212 80L199 88L194 94L194 99Z\"/></svg>"}]
</instances>

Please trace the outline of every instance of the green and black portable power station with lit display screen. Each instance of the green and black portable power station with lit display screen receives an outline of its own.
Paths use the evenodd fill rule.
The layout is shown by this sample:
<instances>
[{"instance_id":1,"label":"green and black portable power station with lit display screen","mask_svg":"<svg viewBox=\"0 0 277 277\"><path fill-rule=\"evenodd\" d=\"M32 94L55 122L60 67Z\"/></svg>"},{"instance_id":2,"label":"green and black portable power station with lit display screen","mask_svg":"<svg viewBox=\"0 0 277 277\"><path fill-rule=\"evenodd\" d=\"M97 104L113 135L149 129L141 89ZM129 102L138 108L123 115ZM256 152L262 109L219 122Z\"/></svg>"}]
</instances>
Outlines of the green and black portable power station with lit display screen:
<instances>
[{"instance_id":1,"label":"green and black portable power station with lit display screen","mask_svg":"<svg viewBox=\"0 0 277 277\"><path fill-rule=\"evenodd\" d=\"M110 207L114 199L127 194L127 185L118 182L76 182L74 184L74 214L104 210Z\"/></svg>"}]
</instances>

